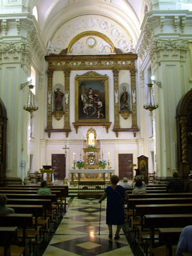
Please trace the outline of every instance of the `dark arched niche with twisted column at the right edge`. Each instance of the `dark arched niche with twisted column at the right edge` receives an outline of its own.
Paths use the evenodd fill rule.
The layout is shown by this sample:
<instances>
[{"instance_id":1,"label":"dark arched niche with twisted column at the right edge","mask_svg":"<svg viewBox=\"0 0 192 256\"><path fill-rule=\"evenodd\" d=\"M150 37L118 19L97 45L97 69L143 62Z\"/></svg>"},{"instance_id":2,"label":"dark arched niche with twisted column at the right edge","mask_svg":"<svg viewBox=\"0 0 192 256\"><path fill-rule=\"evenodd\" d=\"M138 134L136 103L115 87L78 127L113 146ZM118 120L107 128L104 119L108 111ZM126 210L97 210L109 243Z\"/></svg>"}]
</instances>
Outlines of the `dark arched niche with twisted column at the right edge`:
<instances>
[{"instance_id":1,"label":"dark arched niche with twisted column at the right edge","mask_svg":"<svg viewBox=\"0 0 192 256\"><path fill-rule=\"evenodd\" d=\"M185 179L192 168L192 89L179 100L176 119L178 170Z\"/></svg>"}]
</instances>

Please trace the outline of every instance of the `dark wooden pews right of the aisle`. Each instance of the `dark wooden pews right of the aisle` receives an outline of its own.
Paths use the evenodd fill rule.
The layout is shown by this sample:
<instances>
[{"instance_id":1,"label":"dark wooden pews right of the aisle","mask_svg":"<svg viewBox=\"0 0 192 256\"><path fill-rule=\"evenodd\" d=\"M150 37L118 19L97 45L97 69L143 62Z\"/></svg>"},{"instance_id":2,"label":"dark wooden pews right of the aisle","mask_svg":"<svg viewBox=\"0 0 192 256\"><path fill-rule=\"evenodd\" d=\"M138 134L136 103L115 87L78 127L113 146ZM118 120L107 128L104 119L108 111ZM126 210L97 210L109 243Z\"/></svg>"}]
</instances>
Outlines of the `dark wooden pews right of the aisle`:
<instances>
[{"instance_id":1,"label":"dark wooden pews right of the aisle","mask_svg":"<svg viewBox=\"0 0 192 256\"><path fill-rule=\"evenodd\" d=\"M192 193L166 193L163 187L150 184L145 195L126 189L125 220L146 256L176 255L182 228L192 225Z\"/></svg>"}]
</instances>

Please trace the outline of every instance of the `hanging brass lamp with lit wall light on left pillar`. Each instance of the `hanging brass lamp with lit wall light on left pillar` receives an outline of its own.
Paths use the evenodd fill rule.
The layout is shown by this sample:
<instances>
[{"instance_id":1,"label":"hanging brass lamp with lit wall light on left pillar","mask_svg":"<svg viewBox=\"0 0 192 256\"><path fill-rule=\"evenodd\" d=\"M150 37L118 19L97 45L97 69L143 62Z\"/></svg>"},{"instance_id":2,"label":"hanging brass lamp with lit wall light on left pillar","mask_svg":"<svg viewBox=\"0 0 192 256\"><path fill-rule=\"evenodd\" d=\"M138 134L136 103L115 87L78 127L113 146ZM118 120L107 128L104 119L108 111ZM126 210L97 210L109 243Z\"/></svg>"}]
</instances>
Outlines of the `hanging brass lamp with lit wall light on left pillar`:
<instances>
[{"instance_id":1,"label":"hanging brass lamp with lit wall light on left pillar","mask_svg":"<svg viewBox=\"0 0 192 256\"><path fill-rule=\"evenodd\" d=\"M35 99L34 99L34 94L31 92L31 89L34 88L34 85L31 84L32 79L31 77L28 78L28 82L20 84L20 90L22 90L26 85L29 86L29 93L28 93L28 103L27 105L24 105L24 109L28 111L29 113L33 113L38 109L38 106L35 105Z\"/></svg>"}]
</instances>

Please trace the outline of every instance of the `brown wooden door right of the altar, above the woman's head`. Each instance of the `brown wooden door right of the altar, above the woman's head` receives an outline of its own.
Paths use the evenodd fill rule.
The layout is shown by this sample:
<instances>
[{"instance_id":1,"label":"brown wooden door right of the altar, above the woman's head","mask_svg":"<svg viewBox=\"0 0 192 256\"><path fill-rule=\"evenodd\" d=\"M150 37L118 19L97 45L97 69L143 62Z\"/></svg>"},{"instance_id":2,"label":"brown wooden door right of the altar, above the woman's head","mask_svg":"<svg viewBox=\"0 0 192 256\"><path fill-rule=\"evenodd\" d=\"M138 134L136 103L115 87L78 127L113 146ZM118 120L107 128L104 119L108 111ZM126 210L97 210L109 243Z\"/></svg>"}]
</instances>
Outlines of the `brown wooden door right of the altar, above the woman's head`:
<instances>
[{"instance_id":1,"label":"brown wooden door right of the altar, above the woman's head","mask_svg":"<svg viewBox=\"0 0 192 256\"><path fill-rule=\"evenodd\" d=\"M132 154L118 154L118 176L120 180L124 177L132 180Z\"/></svg>"}]
</instances>

